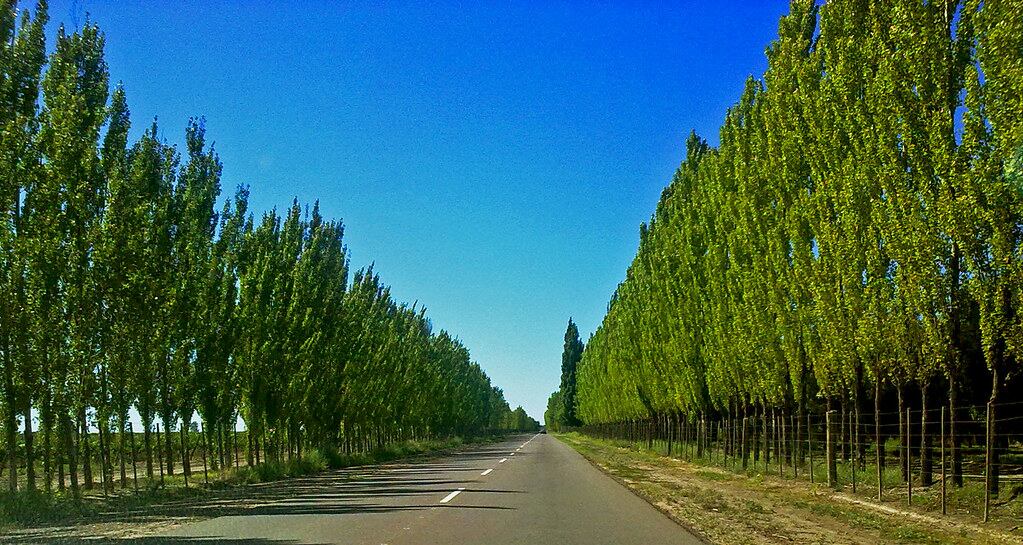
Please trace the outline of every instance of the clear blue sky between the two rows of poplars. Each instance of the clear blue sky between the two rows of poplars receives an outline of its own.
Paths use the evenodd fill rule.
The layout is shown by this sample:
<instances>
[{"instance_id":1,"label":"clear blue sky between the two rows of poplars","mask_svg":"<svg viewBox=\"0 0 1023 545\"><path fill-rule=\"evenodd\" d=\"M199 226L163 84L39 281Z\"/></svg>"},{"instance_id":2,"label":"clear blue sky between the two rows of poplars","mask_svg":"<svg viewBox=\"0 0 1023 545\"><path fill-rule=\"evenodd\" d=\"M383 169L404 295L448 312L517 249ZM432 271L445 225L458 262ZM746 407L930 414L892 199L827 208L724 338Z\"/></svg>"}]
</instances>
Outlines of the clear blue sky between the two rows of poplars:
<instances>
[{"instance_id":1,"label":"clear blue sky between the two rows of poplars","mask_svg":"<svg viewBox=\"0 0 1023 545\"><path fill-rule=\"evenodd\" d=\"M207 118L225 194L319 199L354 268L542 419L570 316L599 324L696 130L766 67L787 0L51 0L89 13L141 133ZM51 32L51 36L52 36ZM52 47L52 40L50 42Z\"/></svg>"}]
</instances>

